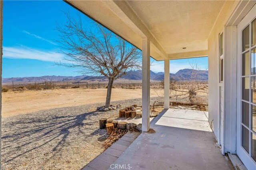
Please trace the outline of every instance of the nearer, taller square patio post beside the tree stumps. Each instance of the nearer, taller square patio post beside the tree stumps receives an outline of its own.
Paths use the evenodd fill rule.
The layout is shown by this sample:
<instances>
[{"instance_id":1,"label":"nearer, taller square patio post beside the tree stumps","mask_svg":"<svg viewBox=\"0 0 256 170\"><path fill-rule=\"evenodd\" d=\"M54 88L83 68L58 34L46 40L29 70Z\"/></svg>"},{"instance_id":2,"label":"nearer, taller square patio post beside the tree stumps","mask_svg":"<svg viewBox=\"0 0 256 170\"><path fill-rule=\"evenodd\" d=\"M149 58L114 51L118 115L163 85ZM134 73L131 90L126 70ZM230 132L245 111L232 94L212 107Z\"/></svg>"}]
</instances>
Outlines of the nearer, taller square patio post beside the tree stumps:
<instances>
[{"instance_id":1,"label":"nearer, taller square patio post beside the tree stumps","mask_svg":"<svg viewBox=\"0 0 256 170\"><path fill-rule=\"evenodd\" d=\"M142 131L148 132L150 123L150 40L142 39Z\"/></svg>"}]
</instances>

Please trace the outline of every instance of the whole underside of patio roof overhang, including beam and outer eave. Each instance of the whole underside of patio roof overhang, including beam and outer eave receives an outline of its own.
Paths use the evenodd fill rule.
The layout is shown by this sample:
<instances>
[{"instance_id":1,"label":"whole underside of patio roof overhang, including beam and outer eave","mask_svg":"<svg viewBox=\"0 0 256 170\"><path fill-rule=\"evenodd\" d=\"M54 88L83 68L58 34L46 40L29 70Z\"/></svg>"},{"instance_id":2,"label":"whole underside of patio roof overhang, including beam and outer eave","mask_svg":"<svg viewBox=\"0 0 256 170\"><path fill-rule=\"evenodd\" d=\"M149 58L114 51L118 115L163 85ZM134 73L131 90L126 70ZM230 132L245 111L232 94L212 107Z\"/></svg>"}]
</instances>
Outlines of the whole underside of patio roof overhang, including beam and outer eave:
<instances>
[{"instance_id":1,"label":"whole underside of patio roof overhang, including beam and outer eave","mask_svg":"<svg viewBox=\"0 0 256 170\"><path fill-rule=\"evenodd\" d=\"M226 1L67 1L156 60L208 56L208 36ZM186 47L186 49L183 49Z\"/></svg>"}]
</instances>

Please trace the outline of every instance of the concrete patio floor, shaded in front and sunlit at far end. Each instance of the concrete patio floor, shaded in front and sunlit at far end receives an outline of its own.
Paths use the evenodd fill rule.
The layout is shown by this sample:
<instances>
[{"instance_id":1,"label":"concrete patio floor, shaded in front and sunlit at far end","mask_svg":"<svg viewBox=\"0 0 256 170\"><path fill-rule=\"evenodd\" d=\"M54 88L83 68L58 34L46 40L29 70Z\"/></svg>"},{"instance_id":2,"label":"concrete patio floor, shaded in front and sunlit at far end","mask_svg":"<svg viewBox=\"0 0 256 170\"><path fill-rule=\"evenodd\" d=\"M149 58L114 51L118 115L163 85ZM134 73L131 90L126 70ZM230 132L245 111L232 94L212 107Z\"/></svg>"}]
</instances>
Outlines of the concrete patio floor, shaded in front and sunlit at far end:
<instances>
[{"instance_id":1,"label":"concrete patio floor, shaded in front and sunlit at far end","mask_svg":"<svg viewBox=\"0 0 256 170\"><path fill-rule=\"evenodd\" d=\"M228 170L203 111L168 109L150 123L114 162L111 169Z\"/></svg>"}]
</instances>

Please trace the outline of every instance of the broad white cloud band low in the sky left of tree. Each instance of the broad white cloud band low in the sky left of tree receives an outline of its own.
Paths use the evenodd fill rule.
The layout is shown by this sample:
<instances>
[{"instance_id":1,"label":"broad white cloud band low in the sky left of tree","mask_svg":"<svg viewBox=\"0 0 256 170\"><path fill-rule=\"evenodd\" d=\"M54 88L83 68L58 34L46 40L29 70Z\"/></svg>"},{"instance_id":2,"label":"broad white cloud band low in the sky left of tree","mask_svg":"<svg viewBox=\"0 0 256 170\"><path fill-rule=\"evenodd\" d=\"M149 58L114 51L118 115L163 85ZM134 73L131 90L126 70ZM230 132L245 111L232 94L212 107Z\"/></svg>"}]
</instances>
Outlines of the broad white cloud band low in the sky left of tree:
<instances>
[{"instance_id":1,"label":"broad white cloud band low in the sky left of tree","mask_svg":"<svg viewBox=\"0 0 256 170\"><path fill-rule=\"evenodd\" d=\"M64 58L64 55L56 53L56 51L41 51L30 47L20 46L3 47L3 57L14 59L37 59L41 61L60 61Z\"/></svg>"}]
</instances>

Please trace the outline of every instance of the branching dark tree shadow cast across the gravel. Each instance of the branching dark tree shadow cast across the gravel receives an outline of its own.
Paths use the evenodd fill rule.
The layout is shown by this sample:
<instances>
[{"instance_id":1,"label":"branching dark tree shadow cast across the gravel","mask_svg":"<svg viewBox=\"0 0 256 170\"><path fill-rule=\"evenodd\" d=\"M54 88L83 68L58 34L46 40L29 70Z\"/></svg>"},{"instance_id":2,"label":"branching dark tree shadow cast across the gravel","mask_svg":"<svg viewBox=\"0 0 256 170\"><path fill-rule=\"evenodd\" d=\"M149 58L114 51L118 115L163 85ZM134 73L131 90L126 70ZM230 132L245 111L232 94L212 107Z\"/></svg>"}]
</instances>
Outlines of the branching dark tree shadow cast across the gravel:
<instances>
[{"instance_id":1,"label":"branching dark tree shadow cast across the gravel","mask_svg":"<svg viewBox=\"0 0 256 170\"><path fill-rule=\"evenodd\" d=\"M92 125L98 123L98 119L94 119L97 114L96 111L79 115L75 113L60 116L43 114L31 118L22 117L3 124L3 162L10 162L28 152L46 147L45 145L48 145L47 148L51 152L57 154L64 146L69 145L66 139L71 133L89 137L90 132L95 129ZM85 128L89 133L84 130Z\"/></svg>"}]
</instances>

